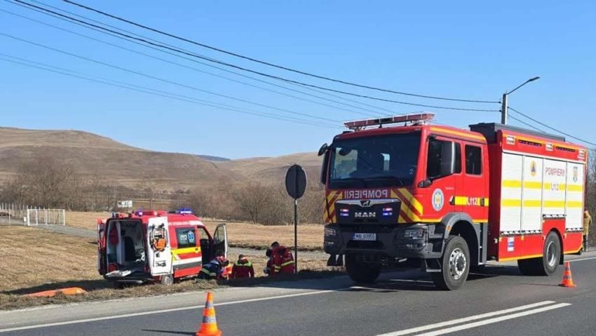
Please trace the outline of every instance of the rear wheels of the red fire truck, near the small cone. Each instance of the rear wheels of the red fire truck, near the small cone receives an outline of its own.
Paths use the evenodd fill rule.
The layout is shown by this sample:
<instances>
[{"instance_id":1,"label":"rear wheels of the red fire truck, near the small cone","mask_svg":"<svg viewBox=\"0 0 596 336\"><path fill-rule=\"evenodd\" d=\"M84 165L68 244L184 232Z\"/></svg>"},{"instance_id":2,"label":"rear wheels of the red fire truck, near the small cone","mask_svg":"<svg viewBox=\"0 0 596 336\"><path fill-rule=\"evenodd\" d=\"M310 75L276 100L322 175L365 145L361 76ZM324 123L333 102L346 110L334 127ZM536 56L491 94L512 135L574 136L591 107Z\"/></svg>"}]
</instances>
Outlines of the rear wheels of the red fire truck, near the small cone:
<instances>
[{"instance_id":1,"label":"rear wheels of the red fire truck, near the small cone","mask_svg":"<svg viewBox=\"0 0 596 336\"><path fill-rule=\"evenodd\" d=\"M561 257L561 244L555 232L546 236L543 257L517 260L517 267L526 276L550 276L555 273Z\"/></svg>"}]
</instances>

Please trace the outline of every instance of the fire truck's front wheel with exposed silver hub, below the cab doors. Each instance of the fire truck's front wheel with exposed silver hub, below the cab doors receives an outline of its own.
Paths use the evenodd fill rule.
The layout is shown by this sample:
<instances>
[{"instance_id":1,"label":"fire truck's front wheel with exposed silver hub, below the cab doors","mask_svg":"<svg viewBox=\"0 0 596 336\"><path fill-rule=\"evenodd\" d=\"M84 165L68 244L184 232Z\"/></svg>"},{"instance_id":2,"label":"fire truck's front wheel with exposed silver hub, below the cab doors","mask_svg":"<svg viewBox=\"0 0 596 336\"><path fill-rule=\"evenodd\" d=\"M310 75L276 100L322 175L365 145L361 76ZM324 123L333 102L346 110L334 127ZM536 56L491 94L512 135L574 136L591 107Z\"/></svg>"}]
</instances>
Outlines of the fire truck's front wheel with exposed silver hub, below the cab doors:
<instances>
[{"instance_id":1,"label":"fire truck's front wheel with exposed silver hub, below the cab doors","mask_svg":"<svg viewBox=\"0 0 596 336\"><path fill-rule=\"evenodd\" d=\"M470 272L470 249L466 240L451 236L445 242L445 250L439 260L442 271L433 272L433 282L442 290L458 290Z\"/></svg>"}]
</instances>

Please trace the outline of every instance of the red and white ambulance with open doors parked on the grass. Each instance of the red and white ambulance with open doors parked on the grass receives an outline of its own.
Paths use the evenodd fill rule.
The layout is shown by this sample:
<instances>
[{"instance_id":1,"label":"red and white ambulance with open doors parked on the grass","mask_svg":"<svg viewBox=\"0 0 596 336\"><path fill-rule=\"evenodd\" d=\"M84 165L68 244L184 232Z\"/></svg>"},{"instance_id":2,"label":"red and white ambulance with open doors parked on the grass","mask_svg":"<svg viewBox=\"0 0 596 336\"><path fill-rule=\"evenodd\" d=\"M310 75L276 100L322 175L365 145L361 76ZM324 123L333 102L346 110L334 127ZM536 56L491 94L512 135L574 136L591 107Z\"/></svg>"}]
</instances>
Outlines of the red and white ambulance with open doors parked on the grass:
<instances>
[{"instance_id":1,"label":"red and white ambulance with open doors parked on the grass","mask_svg":"<svg viewBox=\"0 0 596 336\"><path fill-rule=\"evenodd\" d=\"M226 225L210 234L189 209L137 210L97 220L97 269L108 281L171 285L196 276L203 262L227 257Z\"/></svg>"}]
</instances>

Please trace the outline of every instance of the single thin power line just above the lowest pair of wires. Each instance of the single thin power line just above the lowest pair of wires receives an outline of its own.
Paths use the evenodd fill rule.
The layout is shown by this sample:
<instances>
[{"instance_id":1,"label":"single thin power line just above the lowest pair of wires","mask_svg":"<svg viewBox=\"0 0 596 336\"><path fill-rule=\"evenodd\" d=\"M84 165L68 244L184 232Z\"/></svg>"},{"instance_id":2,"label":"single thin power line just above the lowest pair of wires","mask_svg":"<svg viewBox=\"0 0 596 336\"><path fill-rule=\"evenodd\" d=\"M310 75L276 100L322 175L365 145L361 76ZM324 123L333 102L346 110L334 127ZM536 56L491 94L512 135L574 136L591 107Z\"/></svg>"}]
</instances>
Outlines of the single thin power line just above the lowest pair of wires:
<instances>
[{"instance_id":1,"label":"single thin power line just above the lowest pair of wires","mask_svg":"<svg viewBox=\"0 0 596 336\"><path fill-rule=\"evenodd\" d=\"M4 34L4 33L1 33L0 32L0 36L6 36L6 37L8 37L10 39L15 39L17 41L22 41L24 43L29 43L29 44L32 44L34 46L39 46L41 48L46 48L46 49L48 49L50 51L55 51L57 53L62 53L62 54L65 54L65 55L69 55L69 56L72 56L74 58L79 58L81 60L87 60L89 62L94 62L96 64L104 65L105 67L111 67L113 69L118 69L118 70L121 70L123 72L129 72L131 74L137 74L139 76L144 76L144 77L147 77L149 79L154 79L156 81L163 81L164 83L170 83L170 84L173 84L173 85L176 85L176 86L181 86L183 88L189 88L191 90L196 90L196 91L199 91L199 92L208 93L210 95L217 95L219 97L223 97L223 98L227 98L227 99L231 99L231 100L237 100L239 102L245 102L245 103L251 104L251 105L257 105L259 107L266 107L266 108L269 108L269 109L276 109L276 110L281 111L281 112L287 112L287 113L290 113L290 114L297 114L297 115L300 115L300 116L307 116L307 117L313 118L313 119L320 119L320 120L324 120L324 121L331 121L332 123L337 122L334 119L328 119L328 118L324 118L324 117L321 117L321 116L313 116L312 114L305 114L305 113L302 113L302 112L295 112L295 111L292 111L292 110L289 110L289 109L282 109L280 107L273 107L271 105L265 105L265 104L261 104L261 103L258 103L258 102L252 102L250 100L245 100L245 99L242 99L242 98L236 98L236 97L232 97L232 96L229 96L229 95L222 95L221 93L215 93L215 92L212 92L210 90L203 90L202 88L197 88L196 86L189 86L187 84L182 84L182 83L177 83L175 81L170 81L169 79L163 79L161 77L151 76L149 74L144 74L142 72L137 72L135 70L131 70L131 69L126 69L126 68L123 68L123 67L119 67L117 65L111 65L111 64L106 63L106 62L102 62L102 61L99 61L99 60L94 60L93 58L88 58L88 57L85 57L85 56L76 55L74 53L69 53L68 51L62 51L62 50L57 49L57 48L52 48L50 46L45 46L45 45L43 45L41 43L36 43L36 42L33 42L33 41L28 41L26 39L21 39L19 37L12 36L12 35L9 35L9 34Z\"/></svg>"}]
</instances>

